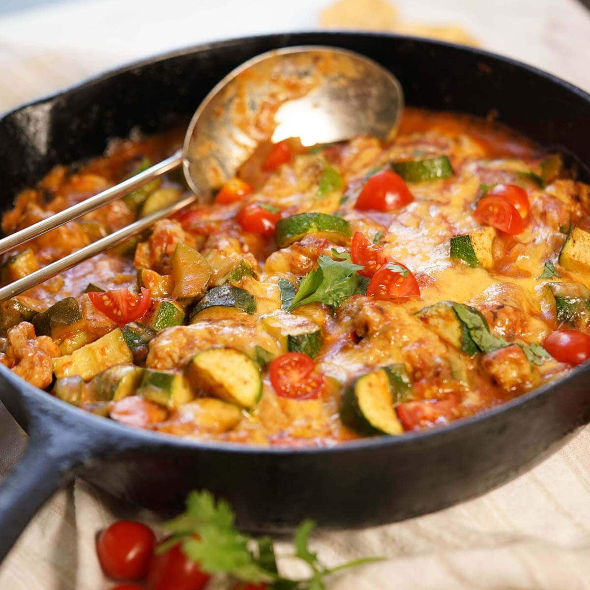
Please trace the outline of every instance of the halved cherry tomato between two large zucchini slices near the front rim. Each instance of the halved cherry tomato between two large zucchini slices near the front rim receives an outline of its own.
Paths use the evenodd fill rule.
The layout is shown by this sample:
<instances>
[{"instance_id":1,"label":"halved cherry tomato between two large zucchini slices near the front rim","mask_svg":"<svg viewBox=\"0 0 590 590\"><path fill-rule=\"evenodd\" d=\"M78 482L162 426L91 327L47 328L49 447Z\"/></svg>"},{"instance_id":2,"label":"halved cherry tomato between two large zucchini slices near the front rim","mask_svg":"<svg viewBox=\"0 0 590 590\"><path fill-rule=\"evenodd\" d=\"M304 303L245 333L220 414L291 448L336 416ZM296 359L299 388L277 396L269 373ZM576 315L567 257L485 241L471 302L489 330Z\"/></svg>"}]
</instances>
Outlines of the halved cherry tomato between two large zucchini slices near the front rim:
<instances>
[{"instance_id":1,"label":"halved cherry tomato between two large zucchini slices near the front rim","mask_svg":"<svg viewBox=\"0 0 590 590\"><path fill-rule=\"evenodd\" d=\"M324 378L313 373L313 359L300 352L287 352L270 363L270 382L282 398L314 399L323 389Z\"/></svg>"}]
</instances>

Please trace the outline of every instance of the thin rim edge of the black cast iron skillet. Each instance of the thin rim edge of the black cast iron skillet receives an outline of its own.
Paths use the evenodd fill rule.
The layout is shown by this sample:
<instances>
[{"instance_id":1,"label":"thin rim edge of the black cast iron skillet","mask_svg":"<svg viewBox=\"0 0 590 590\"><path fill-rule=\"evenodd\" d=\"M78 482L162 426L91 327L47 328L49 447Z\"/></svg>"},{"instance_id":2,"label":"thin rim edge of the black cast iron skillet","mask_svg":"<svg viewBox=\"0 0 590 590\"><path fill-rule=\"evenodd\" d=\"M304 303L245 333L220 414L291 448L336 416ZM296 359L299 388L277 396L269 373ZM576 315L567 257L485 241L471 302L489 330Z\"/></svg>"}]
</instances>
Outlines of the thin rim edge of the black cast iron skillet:
<instances>
[{"instance_id":1,"label":"thin rim edge of the black cast iron skillet","mask_svg":"<svg viewBox=\"0 0 590 590\"><path fill-rule=\"evenodd\" d=\"M163 61L169 60L171 58L182 57L183 55L189 55L193 53L199 53L202 51L215 50L217 48L237 45L244 40L264 41L273 39L280 41L281 38L294 37L295 39L293 39L293 41L297 42L297 44L299 45L302 45L309 43L309 41L306 40L306 37L317 36L323 37L324 41L322 41L322 44L326 44L328 46L332 44L332 42L337 43L337 40L342 37L379 38L384 40L387 40L388 38L393 38L401 41L415 42L417 44L432 47L448 47L451 50L458 50L461 52L476 54L482 58L500 60L506 64L512 65L513 67L519 68L520 70L526 70L529 73L535 74L536 76L545 78L549 81L549 83L556 84L557 86L560 86L565 90L576 94L580 99L588 103L588 106L590 107L590 94L585 90L579 88L578 86L575 86L575 84L563 80L562 78L555 76L555 74L551 74L549 72L540 70L540 68L537 68L534 65L526 64L521 61L515 60L512 57L496 54L491 51L482 50L480 48L472 48L467 47L466 45L460 45L446 41L437 41L422 37L415 37L411 35L398 35L387 32L307 30L281 31L273 34L264 35L244 35L241 37L233 37L227 40L206 41L200 44L190 45L189 47L176 48L170 51L166 51L165 53L150 55L140 60L130 61L120 66L110 68L109 70L101 71L96 75L84 78L78 83L71 84L70 86L67 86L64 89L58 90L51 94L47 94L38 99L27 101L23 104L20 104L17 107L6 110L5 112L0 113L0 120L4 120L12 114L21 112L22 110L27 109L28 107L33 107L45 103L51 103L55 100L61 99L64 96L67 96L67 94L91 88L92 86L94 86L94 84L99 84L103 81L109 80L110 78L119 76L119 74L128 71L133 71L136 68L141 68L145 65L162 63ZM334 46L338 47L337 44ZM586 166L590 166L590 162L584 164ZM71 404L67 404L67 402L63 402L60 399L55 398L49 392L31 385L31 383L25 381L24 379L16 375L14 372L12 372L10 369L0 364L0 375L4 377L6 381L10 383L12 387L15 389L17 395L19 396L19 400L23 402L27 414L34 414L33 411L30 411L31 408L29 404L31 401L37 406L37 409L38 406L44 402L48 404L57 404L55 407L61 408L62 410L65 408L65 413L69 414L67 416L68 419L74 419L78 423L81 422L80 418L82 418L83 420L87 419L90 421L90 424L97 427L98 430L103 430L103 434L107 434L109 431L112 430L113 434L116 433L117 437L119 438L122 436L127 436L130 438L134 438L138 441L145 440L146 442L150 443L156 442L163 445L170 445L172 447L183 447L195 450L209 451L214 453L255 453L262 455L323 455L333 453L350 453L353 451L363 452L372 450L373 448L388 447L389 445L411 445L414 444L415 441L421 441L422 444L425 445L435 445L437 443L438 438L441 438L443 436L458 437L461 435L462 432L466 431L470 427L476 427L480 422L491 421L494 418L501 416L502 414L508 414L511 411L516 411L516 408L520 408L522 406L525 406L526 404L531 404L537 401L537 399L548 396L552 394L552 389L555 389L558 384L559 386L566 386L569 382L577 379L579 375L581 375L582 373L590 373L590 363L588 363L588 365L586 366L581 365L579 367L572 369L572 371L567 376L558 379L555 382L546 383L545 385L539 388L533 389L532 391L529 391L526 394L510 399L507 402L503 402L497 406L494 406L493 408L486 409L482 412L479 412L478 414L474 414L467 418L457 419L451 422L450 424L444 426L428 428L427 430L417 432L407 432L401 436L380 435L376 437L360 438L358 440L339 442L333 446L290 448L264 447L262 445L247 445L226 441L191 440L189 438L179 437L177 435L172 435L165 432L151 431L143 428L135 428L119 424L119 422L91 414L90 412L84 411L83 409L77 408ZM39 396L42 397L40 398ZM23 398L31 399L23 400ZM48 417L48 419L51 420L51 417ZM581 424L582 422L579 425ZM92 433L92 435L94 434L99 434L99 432Z\"/></svg>"}]
</instances>

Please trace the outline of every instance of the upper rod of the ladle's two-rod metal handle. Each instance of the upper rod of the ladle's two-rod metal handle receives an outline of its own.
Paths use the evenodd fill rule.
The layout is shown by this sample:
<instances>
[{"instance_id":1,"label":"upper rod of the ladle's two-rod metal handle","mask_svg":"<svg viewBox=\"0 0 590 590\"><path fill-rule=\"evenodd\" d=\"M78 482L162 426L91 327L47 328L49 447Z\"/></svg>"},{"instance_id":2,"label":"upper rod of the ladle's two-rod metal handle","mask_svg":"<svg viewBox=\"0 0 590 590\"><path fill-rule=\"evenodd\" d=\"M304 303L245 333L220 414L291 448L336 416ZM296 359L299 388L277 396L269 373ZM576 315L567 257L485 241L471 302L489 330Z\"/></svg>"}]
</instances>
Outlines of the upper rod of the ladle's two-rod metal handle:
<instances>
[{"instance_id":1,"label":"upper rod of the ladle's two-rod metal handle","mask_svg":"<svg viewBox=\"0 0 590 590\"><path fill-rule=\"evenodd\" d=\"M119 199L137 187L147 184L156 176L161 176L166 172L178 168L181 163L182 152L181 150L178 150L174 152L172 156L169 156L169 158L162 160L162 162L150 166L150 168L143 172L139 172L135 176L127 178L127 180L107 188L106 191L99 192L99 194L84 199L84 201L80 201L76 205L72 205L55 215L51 215L51 217L41 219L41 221L29 225L29 227L25 227L24 230L17 231L14 234L2 238L2 240L0 240L0 254L24 244L32 238L36 238L39 235L54 230L56 227L60 227L60 225L64 225L68 221L82 217L91 211L96 211L96 209L99 209L115 199Z\"/></svg>"}]
</instances>

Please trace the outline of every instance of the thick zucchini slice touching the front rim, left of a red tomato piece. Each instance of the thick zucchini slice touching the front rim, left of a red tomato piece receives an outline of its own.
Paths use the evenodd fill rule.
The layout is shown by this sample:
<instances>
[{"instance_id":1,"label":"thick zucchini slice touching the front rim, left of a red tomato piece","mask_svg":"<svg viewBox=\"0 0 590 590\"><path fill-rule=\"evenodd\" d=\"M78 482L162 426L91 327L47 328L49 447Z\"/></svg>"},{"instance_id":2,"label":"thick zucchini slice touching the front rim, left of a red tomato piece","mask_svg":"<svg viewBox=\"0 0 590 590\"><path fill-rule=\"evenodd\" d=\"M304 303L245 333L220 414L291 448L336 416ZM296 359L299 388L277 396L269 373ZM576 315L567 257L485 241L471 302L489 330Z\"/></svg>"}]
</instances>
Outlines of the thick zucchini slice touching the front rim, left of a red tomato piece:
<instances>
[{"instance_id":1,"label":"thick zucchini slice touching the front rim, left of a red tomato piece","mask_svg":"<svg viewBox=\"0 0 590 590\"><path fill-rule=\"evenodd\" d=\"M342 422L359 434L402 434L395 407L410 390L403 363L367 373L346 390L340 409Z\"/></svg>"}]
</instances>

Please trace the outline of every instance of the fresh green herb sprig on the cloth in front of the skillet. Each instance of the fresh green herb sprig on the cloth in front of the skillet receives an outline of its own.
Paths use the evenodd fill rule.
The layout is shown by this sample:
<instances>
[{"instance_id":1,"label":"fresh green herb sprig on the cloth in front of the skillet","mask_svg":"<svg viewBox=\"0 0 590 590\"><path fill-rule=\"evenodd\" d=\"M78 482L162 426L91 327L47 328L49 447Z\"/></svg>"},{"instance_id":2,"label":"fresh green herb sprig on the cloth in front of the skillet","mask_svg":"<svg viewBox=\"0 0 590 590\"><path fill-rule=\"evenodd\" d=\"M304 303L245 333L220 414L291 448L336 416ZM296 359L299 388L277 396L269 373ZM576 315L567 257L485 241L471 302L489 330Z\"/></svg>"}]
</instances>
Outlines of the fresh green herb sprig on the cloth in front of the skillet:
<instances>
[{"instance_id":1,"label":"fresh green herb sprig on the cloth in front of the skillet","mask_svg":"<svg viewBox=\"0 0 590 590\"><path fill-rule=\"evenodd\" d=\"M309 548L315 523L304 520L293 538L293 556L309 565L311 575L302 580L284 578L278 571L272 539L254 539L240 532L234 521L234 512L227 502L219 500L216 503L208 491L193 491L186 500L185 512L163 525L172 536L160 543L156 552L164 552L176 543L182 543L186 556L199 562L204 572L230 575L251 584L264 583L269 590L325 590L325 579L330 574L383 559L356 559L327 568L317 553Z\"/></svg>"}]
</instances>

